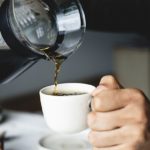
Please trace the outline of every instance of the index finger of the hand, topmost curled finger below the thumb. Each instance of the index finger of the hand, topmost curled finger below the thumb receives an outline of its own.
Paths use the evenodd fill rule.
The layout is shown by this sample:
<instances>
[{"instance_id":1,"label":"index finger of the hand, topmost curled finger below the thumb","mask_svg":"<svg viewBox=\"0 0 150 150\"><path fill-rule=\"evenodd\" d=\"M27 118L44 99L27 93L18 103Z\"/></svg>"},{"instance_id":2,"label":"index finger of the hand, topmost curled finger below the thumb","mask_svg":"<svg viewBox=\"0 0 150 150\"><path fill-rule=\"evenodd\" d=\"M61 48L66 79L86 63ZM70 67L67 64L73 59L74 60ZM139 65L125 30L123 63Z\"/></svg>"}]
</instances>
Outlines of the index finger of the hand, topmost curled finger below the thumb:
<instances>
[{"instance_id":1,"label":"index finger of the hand, topmost curled finger below the thumb","mask_svg":"<svg viewBox=\"0 0 150 150\"><path fill-rule=\"evenodd\" d=\"M92 109L99 112L108 112L121 109L132 99L128 89L103 90L93 97Z\"/></svg>"}]
</instances>

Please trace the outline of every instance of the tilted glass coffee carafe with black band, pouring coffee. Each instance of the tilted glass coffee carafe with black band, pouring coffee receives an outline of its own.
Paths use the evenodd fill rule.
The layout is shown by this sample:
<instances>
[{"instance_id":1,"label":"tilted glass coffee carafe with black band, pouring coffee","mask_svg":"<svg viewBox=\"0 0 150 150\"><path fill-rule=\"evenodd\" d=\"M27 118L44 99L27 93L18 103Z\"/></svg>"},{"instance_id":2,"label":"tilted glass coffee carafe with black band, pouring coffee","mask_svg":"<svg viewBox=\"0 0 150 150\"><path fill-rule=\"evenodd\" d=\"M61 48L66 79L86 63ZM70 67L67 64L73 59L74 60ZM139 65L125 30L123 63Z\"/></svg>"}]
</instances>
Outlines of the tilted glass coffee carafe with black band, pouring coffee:
<instances>
[{"instance_id":1,"label":"tilted glass coffee carafe with black band, pouring coffee","mask_svg":"<svg viewBox=\"0 0 150 150\"><path fill-rule=\"evenodd\" d=\"M0 83L20 75L39 59L64 61L82 43L86 28L78 0L5 0L0 31Z\"/></svg>"}]
</instances>

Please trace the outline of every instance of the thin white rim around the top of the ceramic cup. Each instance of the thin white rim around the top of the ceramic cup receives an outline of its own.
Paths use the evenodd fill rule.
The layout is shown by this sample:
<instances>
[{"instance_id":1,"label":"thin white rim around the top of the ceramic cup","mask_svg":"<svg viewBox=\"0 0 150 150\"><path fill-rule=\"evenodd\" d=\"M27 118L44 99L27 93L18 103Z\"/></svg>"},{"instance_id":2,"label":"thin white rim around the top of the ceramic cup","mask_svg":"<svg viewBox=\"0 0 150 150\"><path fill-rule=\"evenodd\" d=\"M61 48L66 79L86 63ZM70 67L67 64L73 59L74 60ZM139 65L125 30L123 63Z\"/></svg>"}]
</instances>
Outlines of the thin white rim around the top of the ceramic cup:
<instances>
[{"instance_id":1,"label":"thin white rim around the top of the ceramic cup","mask_svg":"<svg viewBox=\"0 0 150 150\"><path fill-rule=\"evenodd\" d=\"M64 86L64 85L74 85L74 86L79 86L79 85L81 85L81 86L89 86L89 87L91 87L91 88L93 88L93 90L96 88L94 85L91 85L91 84L87 84L87 83L73 83L73 82L71 82L71 83L59 83L58 84L58 87L59 86ZM39 91L39 94L44 94L44 95L47 95L47 96L52 96L52 97L60 97L60 96L57 96L57 95L51 95L51 94L47 94L46 92L44 92L44 90L46 90L46 89L48 89L48 88L50 88L50 87L54 87L55 85L53 84L53 85L49 85L49 86L45 86L45 87L43 87L42 89L40 89L40 91ZM93 91L92 90L92 91ZM82 91L79 91L79 92L82 92ZM82 95L88 95L88 94L91 94L91 92L85 92L85 94L82 94ZM69 96L82 96L82 95L69 95ZM63 96L64 97L64 96Z\"/></svg>"}]
</instances>

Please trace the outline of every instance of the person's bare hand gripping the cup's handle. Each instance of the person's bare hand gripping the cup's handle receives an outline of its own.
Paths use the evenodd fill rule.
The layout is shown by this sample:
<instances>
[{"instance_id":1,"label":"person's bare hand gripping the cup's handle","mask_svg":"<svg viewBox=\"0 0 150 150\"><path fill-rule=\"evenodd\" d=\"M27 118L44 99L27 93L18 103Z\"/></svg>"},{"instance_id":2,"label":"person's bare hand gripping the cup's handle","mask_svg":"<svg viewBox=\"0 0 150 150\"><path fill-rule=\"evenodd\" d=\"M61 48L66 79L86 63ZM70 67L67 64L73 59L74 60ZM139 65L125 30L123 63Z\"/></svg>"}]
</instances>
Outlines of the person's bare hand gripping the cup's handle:
<instances>
[{"instance_id":1,"label":"person's bare hand gripping the cup's handle","mask_svg":"<svg viewBox=\"0 0 150 150\"><path fill-rule=\"evenodd\" d=\"M150 104L139 89L104 76L92 93L89 142L93 150L149 150Z\"/></svg>"}]
</instances>

